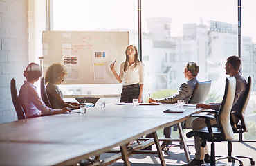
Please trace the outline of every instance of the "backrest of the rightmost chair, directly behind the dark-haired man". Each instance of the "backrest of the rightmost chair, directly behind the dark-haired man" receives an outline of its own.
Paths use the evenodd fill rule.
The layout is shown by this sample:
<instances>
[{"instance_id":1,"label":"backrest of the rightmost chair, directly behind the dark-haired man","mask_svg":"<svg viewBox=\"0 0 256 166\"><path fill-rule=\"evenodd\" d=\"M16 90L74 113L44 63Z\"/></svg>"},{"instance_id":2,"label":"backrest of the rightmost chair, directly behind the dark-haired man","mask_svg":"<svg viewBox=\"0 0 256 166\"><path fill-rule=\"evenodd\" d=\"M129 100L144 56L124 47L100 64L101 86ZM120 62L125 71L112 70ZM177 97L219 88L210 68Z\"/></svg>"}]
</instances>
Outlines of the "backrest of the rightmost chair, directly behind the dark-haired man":
<instances>
[{"instance_id":1,"label":"backrest of the rightmost chair, directly behind the dark-haired man","mask_svg":"<svg viewBox=\"0 0 256 166\"><path fill-rule=\"evenodd\" d=\"M245 114L246 114L246 107L247 107L248 101L250 99L251 84L252 84L252 79L249 76L248 81L247 81L246 91L244 91L244 98L243 98L243 100L241 102L242 104L239 108L239 113L241 113L239 115L239 118L240 118L240 121L241 121L241 129L239 129L239 132L247 132L248 131L248 127L247 127L246 119L245 119Z\"/></svg>"}]
</instances>

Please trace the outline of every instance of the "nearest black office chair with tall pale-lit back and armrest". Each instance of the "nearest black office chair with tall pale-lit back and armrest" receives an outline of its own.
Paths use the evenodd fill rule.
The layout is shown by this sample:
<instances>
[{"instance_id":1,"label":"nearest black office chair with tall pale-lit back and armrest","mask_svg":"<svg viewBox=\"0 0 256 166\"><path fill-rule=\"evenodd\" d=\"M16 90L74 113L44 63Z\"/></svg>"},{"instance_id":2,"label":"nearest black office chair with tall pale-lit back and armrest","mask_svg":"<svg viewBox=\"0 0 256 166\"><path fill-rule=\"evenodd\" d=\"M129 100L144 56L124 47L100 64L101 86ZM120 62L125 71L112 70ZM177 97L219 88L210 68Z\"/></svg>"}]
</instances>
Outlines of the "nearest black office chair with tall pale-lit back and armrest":
<instances>
[{"instance_id":1,"label":"nearest black office chair with tall pale-lit back and armrest","mask_svg":"<svg viewBox=\"0 0 256 166\"><path fill-rule=\"evenodd\" d=\"M202 138L201 147L205 147L206 141L212 142L211 144L211 156L210 165L215 165L215 145L214 142L229 141L234 138L230 123L230 113L232 104L235 97L235 77L226 78L226 87L224 97L221 103L221 108L217 113L217 127L212 127L210 119L214 119L214 116L194 114L193 117L205 118L207 127L203 127L199 130L190 131L187 133L187 137L199 136Z\"/></svg>"}]
</instances>

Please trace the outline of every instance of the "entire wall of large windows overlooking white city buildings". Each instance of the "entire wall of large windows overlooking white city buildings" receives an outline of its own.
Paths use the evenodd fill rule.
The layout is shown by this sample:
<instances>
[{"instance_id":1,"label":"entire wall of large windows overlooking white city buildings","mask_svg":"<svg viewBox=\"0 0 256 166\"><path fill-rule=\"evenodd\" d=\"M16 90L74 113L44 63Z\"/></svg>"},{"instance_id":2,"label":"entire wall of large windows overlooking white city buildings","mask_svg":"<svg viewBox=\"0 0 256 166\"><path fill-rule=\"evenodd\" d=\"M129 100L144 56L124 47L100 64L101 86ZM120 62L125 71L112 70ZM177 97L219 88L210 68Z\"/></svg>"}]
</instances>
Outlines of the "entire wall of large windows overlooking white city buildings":
<instances>
[{"instance_id":1,"label":"entire wall of large windows overlooking white city buildings","mask_svg":"<svg viewBox=\"0 0 256 166\"><path fill-rule=\"evenodd\" d=\"M130 43L138 46L138 1L52 0L51 30L127 30ZM255 127L256 74L253 42L256 42L255 0L242 1L243 75L253 78L248 121ZM237 55L237 1L142 0L142 54L145 64L144 101L172 95L185 81L186 62L200 66L199 80L212 80L206 102L221 101L226 58ZM124 53L125 56L125 53ZM160 81L161 80L161 81ZM61 86L65 95L120 93L121 84ZM163 91L168 91L165 93ZM118 102L118 100L115 99ZM111 101L113 102L113 99ZM254 128L244 139L255 139Z\"/></svg>"}]
</instances>

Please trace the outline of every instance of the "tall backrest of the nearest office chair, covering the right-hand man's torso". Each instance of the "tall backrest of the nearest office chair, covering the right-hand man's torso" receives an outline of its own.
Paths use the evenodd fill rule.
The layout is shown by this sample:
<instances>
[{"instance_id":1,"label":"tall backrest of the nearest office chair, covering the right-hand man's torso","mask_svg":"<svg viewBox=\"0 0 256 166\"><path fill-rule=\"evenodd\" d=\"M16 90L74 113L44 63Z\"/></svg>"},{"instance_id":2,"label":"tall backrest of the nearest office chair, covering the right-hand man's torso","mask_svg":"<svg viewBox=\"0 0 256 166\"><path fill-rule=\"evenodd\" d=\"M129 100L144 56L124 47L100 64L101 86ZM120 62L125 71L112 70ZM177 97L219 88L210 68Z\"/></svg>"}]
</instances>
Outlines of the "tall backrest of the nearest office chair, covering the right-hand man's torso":
<instances>
[{"instance_id":1,"label":"tall backrest of the nearest office chair, covering the right-hand man's torso","mask_svg":"<svg viewBox=\"0 0 256 166\"><path fill-rule=\"evenodd\" d=\"M224 140L232 140L234 133L230 123L230 113L235 98L235 77L226 78L225 93L217 116L217 123Z\"/></svg>"}]
</instances>

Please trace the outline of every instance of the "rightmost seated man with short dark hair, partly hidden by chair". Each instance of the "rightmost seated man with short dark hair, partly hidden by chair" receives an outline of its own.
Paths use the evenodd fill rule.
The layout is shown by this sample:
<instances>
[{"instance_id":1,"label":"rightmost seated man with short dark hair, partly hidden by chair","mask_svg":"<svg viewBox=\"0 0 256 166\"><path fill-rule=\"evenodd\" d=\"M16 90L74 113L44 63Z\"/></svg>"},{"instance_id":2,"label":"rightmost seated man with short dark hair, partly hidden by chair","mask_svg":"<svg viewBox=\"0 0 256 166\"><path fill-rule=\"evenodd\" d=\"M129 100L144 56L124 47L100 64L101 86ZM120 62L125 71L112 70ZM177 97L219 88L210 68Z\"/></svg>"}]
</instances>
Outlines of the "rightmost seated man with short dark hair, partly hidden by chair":
<instances>
[{"instance_id":1,"label":"rightmost seated man with short dark hair, partly hidden by chair","mask_svg":"<svg viewBox=\"0 0 256 166\"><path fill-rule=\"evenodd\" d=\"M239 73L239 68L241 66L241 59L237 56L228 57L227 62L225 64L226 75L230 77L235 77L236 79L236 90L235 90L235 98L232 106L232 111L237 111L239 105L242 102L242 98L244 96L244 91L246 90L246 80L242 77ZM212 103L212 104L197 104L197 108L203 109L214 109L219 110L221 107L221 103ZM239 121L239 117L237 117L239 113L235 113L236 122ZM201 127L205 127L206 124L203 118L197 118L192 121L192 129L198 129ZM216 120L211 120L211 124L217 124ZM208 148L201 147L201 138L198 136L194 137L194 147L196 149L195 158L190 161L190 163L185 164L183 166L194 166L194 165L201 165L203 163L210 163L210 156L208 154Z\"/></svg>"}]
</instances>

